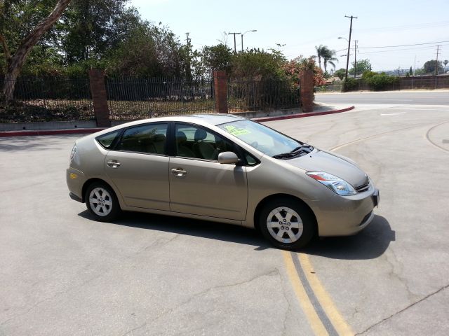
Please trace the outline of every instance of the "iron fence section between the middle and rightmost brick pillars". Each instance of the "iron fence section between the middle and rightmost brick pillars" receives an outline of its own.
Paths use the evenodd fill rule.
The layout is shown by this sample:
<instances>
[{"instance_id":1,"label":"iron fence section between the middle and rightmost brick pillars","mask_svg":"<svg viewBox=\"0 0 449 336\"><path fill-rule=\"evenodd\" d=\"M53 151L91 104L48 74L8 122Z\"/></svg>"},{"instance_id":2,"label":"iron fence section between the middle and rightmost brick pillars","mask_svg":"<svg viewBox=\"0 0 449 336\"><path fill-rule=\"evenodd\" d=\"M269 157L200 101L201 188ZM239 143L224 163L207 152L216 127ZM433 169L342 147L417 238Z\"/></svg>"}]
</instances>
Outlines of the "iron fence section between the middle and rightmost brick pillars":
<instances>
[{"instance_id":1,"label":"iron fence section between the middle and rightmost brick pillars","mask_svg":"<svg viewBox=\"0 0 449 336\"><path fill-rule=\"evenodd\" d=\"M300 87L290 80L228 80L229 112L300 107Z\"/></svg>"}]
</instances>

